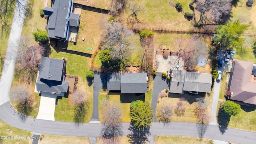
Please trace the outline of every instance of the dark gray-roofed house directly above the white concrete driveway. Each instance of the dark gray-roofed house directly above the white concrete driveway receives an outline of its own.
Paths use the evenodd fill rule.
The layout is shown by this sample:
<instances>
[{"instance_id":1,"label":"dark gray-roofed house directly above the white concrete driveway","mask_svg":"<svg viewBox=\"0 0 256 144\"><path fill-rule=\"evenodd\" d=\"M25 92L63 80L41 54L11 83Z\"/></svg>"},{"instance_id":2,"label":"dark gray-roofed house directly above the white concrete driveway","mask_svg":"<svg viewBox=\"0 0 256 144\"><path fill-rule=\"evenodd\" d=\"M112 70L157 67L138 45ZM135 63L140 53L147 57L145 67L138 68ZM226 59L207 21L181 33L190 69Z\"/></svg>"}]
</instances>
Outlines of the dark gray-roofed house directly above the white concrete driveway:
<instances>
[{"instance_id":1,"label":"dark gray-roofed house directly above the white concrete driveway","mask_svg":"<svg viewBox=\"0 0 256 144\"><path fill-rule=\"evenodd\" d=\"M36 90L41 96L64 96L68 92L68 81L65 81L66 60L41 58Z\"/></svg>"}]
</instances>

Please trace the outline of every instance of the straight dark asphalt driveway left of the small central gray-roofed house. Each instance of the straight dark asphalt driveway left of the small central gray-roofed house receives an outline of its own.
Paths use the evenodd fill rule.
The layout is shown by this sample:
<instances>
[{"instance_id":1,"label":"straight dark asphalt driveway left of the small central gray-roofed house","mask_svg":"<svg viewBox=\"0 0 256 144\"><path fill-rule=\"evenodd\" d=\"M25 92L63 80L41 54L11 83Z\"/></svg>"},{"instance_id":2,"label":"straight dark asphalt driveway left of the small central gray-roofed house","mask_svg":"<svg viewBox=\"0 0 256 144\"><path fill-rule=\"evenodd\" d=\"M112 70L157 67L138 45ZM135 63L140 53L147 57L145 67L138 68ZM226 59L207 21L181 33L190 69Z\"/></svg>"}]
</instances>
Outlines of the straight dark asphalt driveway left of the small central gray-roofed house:
<instances>
[{"instance_id":1,"label":"straight dark asphalt driveway left of the small central gray-roofed house","mask_svg":"<svg viewBox=\"0 0 256 144\"><path fill-rule=\"evenodd\" d=\"M93 109L92 118L90 122L100 121L99 118L99 94L102 89L102 81L106 82L106 77L102 76L99 72L94 72L93 82Z\"/></svg>"}]
</instances>

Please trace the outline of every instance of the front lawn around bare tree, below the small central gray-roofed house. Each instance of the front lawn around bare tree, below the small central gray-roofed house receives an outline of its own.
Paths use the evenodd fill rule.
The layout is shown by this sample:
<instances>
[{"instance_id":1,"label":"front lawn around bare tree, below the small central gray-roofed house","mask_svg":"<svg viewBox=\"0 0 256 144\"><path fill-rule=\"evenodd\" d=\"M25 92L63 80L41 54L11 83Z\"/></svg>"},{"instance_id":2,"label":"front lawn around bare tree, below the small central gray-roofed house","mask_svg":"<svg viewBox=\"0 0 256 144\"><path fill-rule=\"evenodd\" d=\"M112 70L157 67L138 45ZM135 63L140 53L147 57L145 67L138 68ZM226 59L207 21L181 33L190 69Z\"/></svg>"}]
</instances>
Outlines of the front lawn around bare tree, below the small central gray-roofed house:
<instances>
[{"instance_id":1,"label":"front lawn around bare tree, below the small central gray-roofed house","mask_svg":"<svg viewBox=\"0 0 256 144\"><path fill-rule=\"evenodd\" d=\"M120 95L99 95L99 116L102 122L102 104L108 99L108 103L119 105L122 109L122 122L130 122L130 103L121 103Z\"/></svg>"}]
</instances>

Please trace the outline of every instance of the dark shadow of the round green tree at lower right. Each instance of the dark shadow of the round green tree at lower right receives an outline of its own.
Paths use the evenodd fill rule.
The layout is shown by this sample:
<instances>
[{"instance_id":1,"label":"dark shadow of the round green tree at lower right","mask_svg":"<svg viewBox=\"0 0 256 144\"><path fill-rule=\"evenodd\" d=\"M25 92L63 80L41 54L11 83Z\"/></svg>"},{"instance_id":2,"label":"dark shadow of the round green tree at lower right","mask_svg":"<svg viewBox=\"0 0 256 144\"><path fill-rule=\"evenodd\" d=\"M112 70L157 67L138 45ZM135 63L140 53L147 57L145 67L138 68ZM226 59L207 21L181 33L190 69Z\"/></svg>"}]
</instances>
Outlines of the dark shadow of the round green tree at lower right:
<instances>
[{"instance_id":1,"label":"dark shadow of the round green tree at lower right","mask_svg":"<svg viewBox=\"0 0 256 144\"><path fill-rule=\"evenodd\" d=\"M219 109L217 116L218 127L221 134L224 134L228 129L228 123L230 121L230 116L224 112L224 110Z\"/></svg>"}]
</instances>

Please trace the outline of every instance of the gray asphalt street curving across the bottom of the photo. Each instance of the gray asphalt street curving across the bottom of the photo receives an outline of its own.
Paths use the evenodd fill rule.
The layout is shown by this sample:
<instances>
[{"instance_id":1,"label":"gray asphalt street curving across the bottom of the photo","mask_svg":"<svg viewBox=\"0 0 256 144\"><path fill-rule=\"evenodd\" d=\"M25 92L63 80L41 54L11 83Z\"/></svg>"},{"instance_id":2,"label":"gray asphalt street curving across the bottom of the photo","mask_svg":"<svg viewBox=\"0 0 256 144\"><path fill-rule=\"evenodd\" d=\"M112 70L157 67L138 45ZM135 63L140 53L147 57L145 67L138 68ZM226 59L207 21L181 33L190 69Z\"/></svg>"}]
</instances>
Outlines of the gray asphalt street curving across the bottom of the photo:
<instances>
[{"instance_id":1,"label":"gray asphalt street curving across the bottom of the photo","mask_svg":"<svg viewBox=\"0 0 256 144\"><path fill-rule=\"evenodd\" d=\"M72 122L58 122L50 120L35 120L26 117L24 121L20 119L18 112L13 114L14 109L10 108L10 102L6 102L0 106L0 119L16 128L22 130L38 132L42 134L56 134L64 136L86 136L98 137L102 124L81 124L79 127ZM130 123L122 123L123 136L130 134L128 130ZM197 124L186 122L172 122L169 126L163 126L158 122L152 122L150 128L152 136L157 135L174 135L174 136L198 136ZM256 132L248 132L228 128L223 135L219 132L218 126L209 125L204 138L221 140L226 142L236 142L240 144L254 144L256 142ZM151 140L151 139L150 139Z\"/></svg>"}]
</instances>

